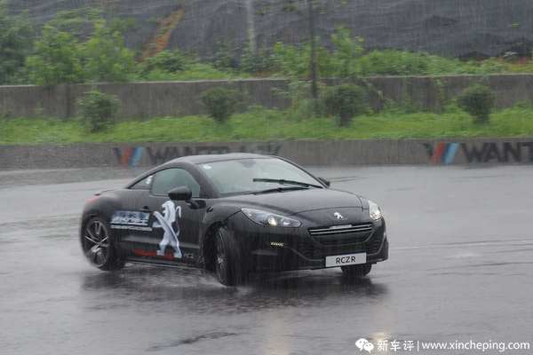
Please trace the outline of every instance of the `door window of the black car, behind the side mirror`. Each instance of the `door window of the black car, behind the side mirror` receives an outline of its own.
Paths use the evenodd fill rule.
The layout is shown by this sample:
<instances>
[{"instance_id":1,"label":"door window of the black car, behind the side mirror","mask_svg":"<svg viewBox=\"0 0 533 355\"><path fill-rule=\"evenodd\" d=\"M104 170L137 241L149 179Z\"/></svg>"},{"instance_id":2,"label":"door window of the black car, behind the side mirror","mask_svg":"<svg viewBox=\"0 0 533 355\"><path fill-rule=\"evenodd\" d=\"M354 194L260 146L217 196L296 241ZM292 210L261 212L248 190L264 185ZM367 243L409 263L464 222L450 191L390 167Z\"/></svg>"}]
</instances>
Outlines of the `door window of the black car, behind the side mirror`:
<instances>
[{"instance_id":1,"label":"door window of the black car, behind the side mirror","mask_svg":"<svg viewBox=\"0 0 533 355\"><path fill-rule=\"evenodd\" d=\"M166 196L169 191L179 186L187 186L195 198L202 195L202 189L195 177L187 170L177 168L161 170L155 173L154 183L150 192L156 196Z\"/></svg>"}]
</instances>

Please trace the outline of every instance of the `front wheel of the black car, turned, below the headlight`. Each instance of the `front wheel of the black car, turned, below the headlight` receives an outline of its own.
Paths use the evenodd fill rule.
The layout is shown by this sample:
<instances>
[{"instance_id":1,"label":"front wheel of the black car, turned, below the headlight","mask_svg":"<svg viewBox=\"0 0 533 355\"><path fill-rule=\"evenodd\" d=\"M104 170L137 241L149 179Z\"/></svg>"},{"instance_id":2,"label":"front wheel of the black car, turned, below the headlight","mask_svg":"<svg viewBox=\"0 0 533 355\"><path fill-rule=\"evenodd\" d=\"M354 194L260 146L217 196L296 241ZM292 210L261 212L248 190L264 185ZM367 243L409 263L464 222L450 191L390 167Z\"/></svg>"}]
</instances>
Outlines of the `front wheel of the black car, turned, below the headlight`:
<instances>
[{"instance_id":1,"label":"front wheel of the black car, turned, below the headlight","mask_svg":"<svg viewBox=\"0 0 533 355\"><path fill-rule=\"evenodd\" d=\"M234 235L220 228L215 236L215 270L222 285L234 286L241 280L238 245Z\"/></svg>"}]
</instances>

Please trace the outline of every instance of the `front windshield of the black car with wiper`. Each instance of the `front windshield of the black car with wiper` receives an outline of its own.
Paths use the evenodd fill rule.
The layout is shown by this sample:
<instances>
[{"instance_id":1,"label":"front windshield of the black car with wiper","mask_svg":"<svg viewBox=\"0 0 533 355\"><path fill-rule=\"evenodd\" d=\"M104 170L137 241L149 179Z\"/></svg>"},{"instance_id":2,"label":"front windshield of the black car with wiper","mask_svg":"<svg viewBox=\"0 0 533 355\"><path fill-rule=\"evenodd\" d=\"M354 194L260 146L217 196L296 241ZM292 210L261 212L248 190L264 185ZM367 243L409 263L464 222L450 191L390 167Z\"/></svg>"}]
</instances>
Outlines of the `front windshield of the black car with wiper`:
<instances>
[{"instance_id":1,"label":"front windshield of the black car with wiper","mask_svg":"<svg viewBox=\"0 0 533 355\"><path fill-rule=\"evenodd\" d=\"M315 188L306 171L277 158L239 159L198 164L222 196Z\"/></svg>"}]
</instances>

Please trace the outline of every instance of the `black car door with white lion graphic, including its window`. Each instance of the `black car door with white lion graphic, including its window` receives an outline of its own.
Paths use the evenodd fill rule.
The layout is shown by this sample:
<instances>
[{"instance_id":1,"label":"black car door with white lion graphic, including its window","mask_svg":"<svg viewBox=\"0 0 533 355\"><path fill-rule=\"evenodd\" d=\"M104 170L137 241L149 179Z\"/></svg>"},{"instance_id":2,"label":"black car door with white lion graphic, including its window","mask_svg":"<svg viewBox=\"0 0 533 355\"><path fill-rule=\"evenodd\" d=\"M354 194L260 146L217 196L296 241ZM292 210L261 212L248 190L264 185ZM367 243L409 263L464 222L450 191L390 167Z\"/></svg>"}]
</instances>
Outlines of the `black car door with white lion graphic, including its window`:
<instances>
[{"instance_id":1,"label":"black car door with white lion graphic, including its window","mask_svg":"<svg viewBox=\"0 0 533 355\"><path fill-rule=\"evenodd\" d=\"M187 170L170 168L154 174L150 192L139 207L149 213L151 226L145 254L165 263L194 262L199 255L203 209L171 201L169 191L179 186L187 186L195 199L202 197L200 185Z\"/></svg>"}]
</instances>

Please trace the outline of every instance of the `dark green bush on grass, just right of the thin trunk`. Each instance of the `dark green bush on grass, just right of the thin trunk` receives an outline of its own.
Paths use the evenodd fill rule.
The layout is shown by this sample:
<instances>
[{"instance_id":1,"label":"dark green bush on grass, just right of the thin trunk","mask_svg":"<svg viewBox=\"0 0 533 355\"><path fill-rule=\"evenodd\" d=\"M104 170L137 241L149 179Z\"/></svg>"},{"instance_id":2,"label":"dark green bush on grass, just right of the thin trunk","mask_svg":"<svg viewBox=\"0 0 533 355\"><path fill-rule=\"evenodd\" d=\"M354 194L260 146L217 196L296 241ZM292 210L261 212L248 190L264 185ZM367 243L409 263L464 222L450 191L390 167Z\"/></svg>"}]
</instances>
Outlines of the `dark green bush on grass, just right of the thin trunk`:
<instances>
[{"instance_id":1,"label":"dark green bush on grass, just right of the thin trunk","mask_svg":"<svg viewBox=\"0 0 533 355\"><path fill-rule=\"evenodd\" d=\"M325 114L337 117L338 126L349 126L354 116L367 110L366 91L361 86L347 83L332 86L324 92L322 106Z\"/></svg>"}]
</instances>

